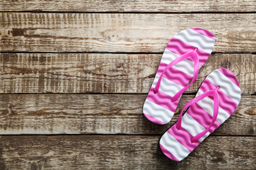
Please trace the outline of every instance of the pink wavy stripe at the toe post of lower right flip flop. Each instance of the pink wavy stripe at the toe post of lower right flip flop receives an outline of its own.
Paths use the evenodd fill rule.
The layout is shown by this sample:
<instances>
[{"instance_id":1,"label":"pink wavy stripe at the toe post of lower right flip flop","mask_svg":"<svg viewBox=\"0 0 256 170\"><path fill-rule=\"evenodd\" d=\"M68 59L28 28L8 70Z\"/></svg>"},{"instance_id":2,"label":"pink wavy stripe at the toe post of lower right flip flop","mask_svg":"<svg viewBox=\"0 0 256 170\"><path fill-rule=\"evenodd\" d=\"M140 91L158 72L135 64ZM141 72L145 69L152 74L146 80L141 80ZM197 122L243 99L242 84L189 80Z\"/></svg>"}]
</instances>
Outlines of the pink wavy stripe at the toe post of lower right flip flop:
<instances>
[{"instance_id":1,"label":"pink wavy stripe at the toe post of lower right flip flop","mask_svg":"<svg viewBox=\"0 0 256 170\"><path fill-rule=\"evenodd\" d=\"M217 86L213 84L209 79L205 79L200 86L201 91L206 92L209 90L216 89ZM220 108L223 108L228 114L232 115L236 108L238 108L238 103L235 103L229 96L223 93L223 91L218 90L220 96ZM213 100L212 96L209 96Z\"/></svg>"}]
</instances>

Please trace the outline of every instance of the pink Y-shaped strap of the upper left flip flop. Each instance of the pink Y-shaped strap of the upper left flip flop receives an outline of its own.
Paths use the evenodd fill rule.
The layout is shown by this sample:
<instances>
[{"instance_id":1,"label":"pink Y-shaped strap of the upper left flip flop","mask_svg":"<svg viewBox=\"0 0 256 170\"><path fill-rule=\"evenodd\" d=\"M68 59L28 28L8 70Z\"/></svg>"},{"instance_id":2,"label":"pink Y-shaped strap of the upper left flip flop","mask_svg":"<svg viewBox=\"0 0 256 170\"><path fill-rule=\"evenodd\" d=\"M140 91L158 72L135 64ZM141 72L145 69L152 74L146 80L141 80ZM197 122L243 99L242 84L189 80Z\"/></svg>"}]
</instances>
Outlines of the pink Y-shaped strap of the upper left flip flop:
<instances>
[{"instance_id":1,"label":"pink Y-shaped strap of the upper left flip flop","mask_svg":"<svg viewBox=\"0 0 256 170\"><path fill-rule=\"evenodd\" d=\"M172 102L176 101L179 98L179 96L181 96L181 94L183 94L184 91L186 91L188 89L188 87L190 87L191 84L193 84L193 82L196 80L196 77L198 76L198 72L199 72L199 58L198 58L198 54L196 53L197 50L198 50L198 48L195 48L195 50L193 50L191 52L187 52L184 55L181 55L181 57L176 58L174 61L172 61L170 64L168 64L166 66L166 68L164 69L164 72L161 73L161 76L159 77L159 80L156 83L156 86L153 90L154 94L156 94L159 91L159 87L160 87L160 84L161 84L161 78L163 77L164 73L168 69L173 67L175 64L178 64L178 62L181 62L181 61L185 60L188 57L193 57L193 61L194 61L193 79L192 79L190 84L188 84L187 86L183 87L183 89L178 91L178 93L175 94L173 98L171 98L171 101Z\"/></svg>"}]
</instances>

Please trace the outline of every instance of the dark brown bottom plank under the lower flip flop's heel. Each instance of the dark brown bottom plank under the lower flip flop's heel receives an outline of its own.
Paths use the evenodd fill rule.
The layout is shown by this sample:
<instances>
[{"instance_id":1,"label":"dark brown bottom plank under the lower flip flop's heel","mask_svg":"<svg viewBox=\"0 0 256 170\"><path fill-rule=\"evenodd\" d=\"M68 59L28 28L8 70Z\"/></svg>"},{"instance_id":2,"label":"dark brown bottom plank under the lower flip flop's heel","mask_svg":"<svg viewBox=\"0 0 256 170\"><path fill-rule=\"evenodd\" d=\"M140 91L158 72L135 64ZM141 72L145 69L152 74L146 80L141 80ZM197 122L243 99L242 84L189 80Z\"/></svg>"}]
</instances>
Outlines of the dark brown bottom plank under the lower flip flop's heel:
<instances>
[{"instance_id":1,"label":"dark brown bottom plank under the lower flip flop's heel","mask_svg":"<svg viewBox=\"0 0 256 170\"><path fill-rule=\"evenodd\" d=\"M1 136L1 169L255 169L256 137L208 137L182 162L160 136Z\"/></svg>"}]
</instances>

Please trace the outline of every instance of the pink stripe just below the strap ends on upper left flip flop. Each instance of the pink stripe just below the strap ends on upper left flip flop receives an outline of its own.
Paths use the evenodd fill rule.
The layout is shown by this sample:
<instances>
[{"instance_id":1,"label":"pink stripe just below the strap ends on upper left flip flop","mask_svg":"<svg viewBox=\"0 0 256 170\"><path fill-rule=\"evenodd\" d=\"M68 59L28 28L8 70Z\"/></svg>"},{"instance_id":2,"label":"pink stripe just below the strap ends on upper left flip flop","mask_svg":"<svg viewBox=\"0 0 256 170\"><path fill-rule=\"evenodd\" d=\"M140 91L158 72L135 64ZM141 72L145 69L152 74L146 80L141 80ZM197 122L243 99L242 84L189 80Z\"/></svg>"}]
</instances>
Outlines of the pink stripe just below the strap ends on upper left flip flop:
<instances>
[{"instance_id":1,"label":"pink stripe just below the strap ends on upper left flip flop","mask_svg":"<svg viewBox=\"0 0 256 170\"><path fill-rule=\"evenodd\" d=\"M171 96L169 96L168 94L165 94L164 92L161 92L161 91L154 94L153 89L154 88L151 88L149 90L149 94L146 97L146 100L156 103L157 105L164 107L164 108L168 109L169 111L175 112L179 100L171 102L171 98L172 98Z\"/></svg>"}]
</instances>

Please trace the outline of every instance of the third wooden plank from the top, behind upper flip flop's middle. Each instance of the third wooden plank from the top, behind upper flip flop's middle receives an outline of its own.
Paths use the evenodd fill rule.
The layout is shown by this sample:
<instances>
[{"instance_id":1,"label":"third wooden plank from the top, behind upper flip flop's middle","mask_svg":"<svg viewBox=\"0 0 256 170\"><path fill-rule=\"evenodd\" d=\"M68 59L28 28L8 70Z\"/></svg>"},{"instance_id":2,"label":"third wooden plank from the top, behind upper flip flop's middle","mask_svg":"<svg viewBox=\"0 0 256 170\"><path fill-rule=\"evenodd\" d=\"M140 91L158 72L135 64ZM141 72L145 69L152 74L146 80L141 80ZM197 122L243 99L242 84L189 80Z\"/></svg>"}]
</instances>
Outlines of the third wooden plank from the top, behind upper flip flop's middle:
<instances>
[{"instance_id":1,"label":"third wooden plank from the top, behind upper flip flop's middle","mask_svg":"<svg viewBox=\"0 0 256 170\"><path fill-rule=\"evenodd\" d=\"M145 93L161 55L30 54L0 55L0 92L13 93ZM196 92L214 69L230 69L242 94L255 94L256 55L215 54L202 67L186 93Z\"/></svg>"}]
</instances>

